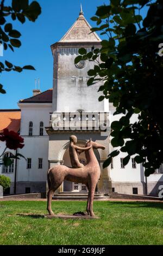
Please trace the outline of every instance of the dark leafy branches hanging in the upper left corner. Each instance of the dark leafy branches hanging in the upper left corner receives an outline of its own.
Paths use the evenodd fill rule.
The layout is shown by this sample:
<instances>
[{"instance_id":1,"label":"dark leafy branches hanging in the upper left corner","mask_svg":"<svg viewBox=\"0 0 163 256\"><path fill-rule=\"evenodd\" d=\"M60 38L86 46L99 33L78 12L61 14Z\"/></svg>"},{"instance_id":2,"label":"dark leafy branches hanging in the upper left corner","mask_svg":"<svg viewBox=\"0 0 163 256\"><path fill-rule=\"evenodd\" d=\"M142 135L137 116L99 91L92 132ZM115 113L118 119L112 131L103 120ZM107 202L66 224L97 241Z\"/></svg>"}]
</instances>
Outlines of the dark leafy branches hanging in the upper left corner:
<instances>
[{"instance_id":1,"label":"dark leafy branches hanging in the upper left corner","mask_svg":"<svg viewBox=\"0 0 163 256\"><path fill-rule=\"evenodd\" d=\"M0 4L0 44L3 44L4 50L10 49L14 51L15 47L21 46L21 41L18 39L21 37L21 33L14 29L12 23L7 22L7 17L11 17L13 21L18 20L21 23L26 22L26 19L34 22L41 14L41 8L36 1L29 4L28 0L12 0L11 6L5 6L4 2L4 0L1 0ZM19 67L9 61L0 62L0 73L10 72L11 70L22 72L23 69L35 70L30 65ZM1 84L0 93L5 93Z\"/></svg>"}]
</instances>

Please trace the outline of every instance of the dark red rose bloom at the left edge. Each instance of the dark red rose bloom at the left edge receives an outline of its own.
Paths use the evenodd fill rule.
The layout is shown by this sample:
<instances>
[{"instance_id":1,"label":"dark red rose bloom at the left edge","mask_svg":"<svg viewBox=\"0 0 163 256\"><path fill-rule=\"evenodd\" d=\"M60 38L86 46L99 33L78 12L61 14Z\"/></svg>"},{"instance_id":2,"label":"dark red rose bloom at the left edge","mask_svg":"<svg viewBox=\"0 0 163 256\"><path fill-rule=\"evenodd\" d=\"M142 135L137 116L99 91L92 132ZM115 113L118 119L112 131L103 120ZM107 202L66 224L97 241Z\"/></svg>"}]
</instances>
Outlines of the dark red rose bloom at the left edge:
<instances>
[{"instance_id":1,"label":"dark red rose bloom at the left edge","mask_svg":"<svg viewBox=\"0 0 163 256\"><path fill-rule=\"evenodd\" d=\"M3 130L2 135L0 135L0 140L6 142L6 146L10 148L10 150L17 150L17 148L22 148L24 144L24 139L15 133L13 130L9 132L7 128Z\"/></svg>"}]
</instances>

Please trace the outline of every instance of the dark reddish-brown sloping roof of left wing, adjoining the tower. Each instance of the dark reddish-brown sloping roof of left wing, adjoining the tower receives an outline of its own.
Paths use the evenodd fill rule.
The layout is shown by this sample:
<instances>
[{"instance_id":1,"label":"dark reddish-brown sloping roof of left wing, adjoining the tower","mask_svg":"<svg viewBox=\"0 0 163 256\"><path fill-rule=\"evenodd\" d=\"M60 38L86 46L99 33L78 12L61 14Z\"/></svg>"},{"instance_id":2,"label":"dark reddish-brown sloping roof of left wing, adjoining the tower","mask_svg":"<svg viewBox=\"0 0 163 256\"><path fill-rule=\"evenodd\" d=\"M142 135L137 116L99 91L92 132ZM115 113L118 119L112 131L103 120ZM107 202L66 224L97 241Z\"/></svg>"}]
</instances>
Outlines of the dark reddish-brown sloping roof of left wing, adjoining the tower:
<instances>
[{"instance_id":1,"label":"dark reddish-brown sloping roof of left wing, adjoining the tower","mask_svg":"<svg viewBox=\"0 0 163 256\"><path fill-rule=\"evenodd\" d=\"M36 96L20 100L20 103L52 103L53 89L41 92Z\"/></svg>"}]
</instances>

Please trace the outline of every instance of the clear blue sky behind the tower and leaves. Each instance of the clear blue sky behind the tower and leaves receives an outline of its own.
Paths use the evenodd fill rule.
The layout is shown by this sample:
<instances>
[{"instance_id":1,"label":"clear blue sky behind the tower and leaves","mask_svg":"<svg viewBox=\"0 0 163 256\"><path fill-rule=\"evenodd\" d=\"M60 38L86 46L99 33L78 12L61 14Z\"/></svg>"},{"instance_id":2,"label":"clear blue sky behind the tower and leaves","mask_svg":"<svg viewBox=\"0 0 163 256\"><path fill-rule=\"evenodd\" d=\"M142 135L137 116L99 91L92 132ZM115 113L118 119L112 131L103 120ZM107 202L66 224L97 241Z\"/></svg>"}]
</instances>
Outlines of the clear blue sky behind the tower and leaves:
<instances>
[{"instance_id":1,"label":"clear blue sky behind the tower and leaves","mask_svg":"<svg viewBox=\"0 0 163 256\"><path fill-rule=\"evenodd\" d=\"M30 1L32 2L32 1ZM35 88L35 78L40 78L41 91L53 87L53 57L51 45L62 38L79 16L82 2L84 16L91 26L96 23L90 18L95 15L96 8L106 0L37 0L42 13L36 22L27 21L23 25L14 21L13 27L21 32L22 46L13 53L10 49L4 51L0 61L5 60L23 67L31 64L36 71L24 70L22 73L4 72L0 83L4 85L7 94L0 94L0 109L18 108L20 99L32 96ZM5 5L11 0L5 0ZM8 20L10 22L10 20Z\"/></svg>"}]
</instances>

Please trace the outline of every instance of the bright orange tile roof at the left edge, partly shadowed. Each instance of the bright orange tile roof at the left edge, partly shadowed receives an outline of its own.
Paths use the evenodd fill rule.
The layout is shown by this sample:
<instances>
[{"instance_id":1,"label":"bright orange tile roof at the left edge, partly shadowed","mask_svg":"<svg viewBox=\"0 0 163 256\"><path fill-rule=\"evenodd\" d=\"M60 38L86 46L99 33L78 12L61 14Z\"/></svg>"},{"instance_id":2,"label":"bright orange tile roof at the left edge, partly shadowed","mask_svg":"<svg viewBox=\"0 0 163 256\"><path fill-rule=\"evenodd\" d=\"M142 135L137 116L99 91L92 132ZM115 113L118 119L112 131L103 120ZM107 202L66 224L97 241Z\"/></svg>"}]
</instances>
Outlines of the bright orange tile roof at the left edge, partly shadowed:
<instances>
[{"instance_id":1,"label":"bright orange tile roof at the left edge, partly shadowed","mask_svg":"<svg viewBox=\"0 0 163 256\"><path fill-rule=\"evenodd\" d=\"M21 111L20 110L0 110L0 133L8 128L18 132L20 130Z\"/></svg>"}]
</instances>

